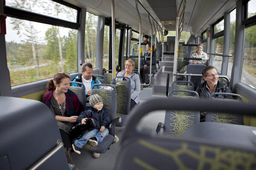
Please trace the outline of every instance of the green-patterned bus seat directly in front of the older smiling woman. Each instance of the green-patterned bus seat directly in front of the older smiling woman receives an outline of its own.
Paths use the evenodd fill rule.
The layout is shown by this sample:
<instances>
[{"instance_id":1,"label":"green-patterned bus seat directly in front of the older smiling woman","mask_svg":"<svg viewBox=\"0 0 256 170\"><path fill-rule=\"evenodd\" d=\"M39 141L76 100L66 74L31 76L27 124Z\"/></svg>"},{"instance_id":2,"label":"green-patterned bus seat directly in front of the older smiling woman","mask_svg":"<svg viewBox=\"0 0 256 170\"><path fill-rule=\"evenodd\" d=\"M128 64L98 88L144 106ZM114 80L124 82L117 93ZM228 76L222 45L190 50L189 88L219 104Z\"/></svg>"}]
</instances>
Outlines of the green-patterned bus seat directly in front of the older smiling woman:
<instances>
[{"instance_id":1,"label":"green-patterned bus seat directly in front of the older smiling woman","mask_svg":"<svg viewBox=\"0 0 256 170\"><path fill-rule=\"evenodd\" d=\"M121 77L121 76L117 76ZM131 104L131 81L117 81L116 99L117 109L116 116L121 117L121 122L116 123L117 127L123 127L130 113Z\"/></svg>"}]
</instances>

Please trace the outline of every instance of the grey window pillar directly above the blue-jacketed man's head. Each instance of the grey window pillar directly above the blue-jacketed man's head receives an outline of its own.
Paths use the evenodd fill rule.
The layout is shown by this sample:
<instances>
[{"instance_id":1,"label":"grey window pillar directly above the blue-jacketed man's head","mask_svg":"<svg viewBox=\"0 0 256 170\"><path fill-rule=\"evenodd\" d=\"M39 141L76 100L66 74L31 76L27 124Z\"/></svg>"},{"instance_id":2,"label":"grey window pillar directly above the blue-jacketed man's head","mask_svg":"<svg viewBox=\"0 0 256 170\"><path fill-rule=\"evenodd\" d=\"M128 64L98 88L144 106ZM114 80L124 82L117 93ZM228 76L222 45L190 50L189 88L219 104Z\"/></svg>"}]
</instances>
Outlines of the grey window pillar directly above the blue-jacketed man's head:
<instances>
[{"instance_id":1,"label":"grey window pillar directly above the blue-jacketed man's head","mask_svg":"<svg viewBox=\"0 0 256 170\"><path fill-rule=\"evenodd\" d=\"M81 8L80 13L80 26L77 34L77 70L81 72L81 63L84 63L84 40L85 40L85 22L86 22L86 9Z\"/></svg>"}]
</instances>

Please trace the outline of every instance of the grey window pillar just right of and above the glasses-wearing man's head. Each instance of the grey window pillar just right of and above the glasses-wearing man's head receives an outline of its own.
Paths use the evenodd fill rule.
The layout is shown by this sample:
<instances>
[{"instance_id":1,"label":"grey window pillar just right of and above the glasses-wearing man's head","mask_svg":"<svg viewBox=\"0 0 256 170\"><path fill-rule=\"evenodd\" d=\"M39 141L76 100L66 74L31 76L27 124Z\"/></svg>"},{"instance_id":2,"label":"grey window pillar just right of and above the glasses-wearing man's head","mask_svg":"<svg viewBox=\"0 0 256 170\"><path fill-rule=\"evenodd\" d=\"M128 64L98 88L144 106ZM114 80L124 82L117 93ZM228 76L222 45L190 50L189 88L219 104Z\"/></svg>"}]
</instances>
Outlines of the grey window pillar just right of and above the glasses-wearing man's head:
<instances>
[{"instance_id":1,"label":"grey window pillar just right of and above the glasses-wearing man's head","mask_svg":"<svg viewBox=\"0 0 256 170\"><path fill-rule=\"evenodd\" d=\"M224 43L223 54L229 54L229 37L230 37L230 13L224 14ZM227 75L228 57L222 58L221 75Z\"/></svg>"}]
</instances>

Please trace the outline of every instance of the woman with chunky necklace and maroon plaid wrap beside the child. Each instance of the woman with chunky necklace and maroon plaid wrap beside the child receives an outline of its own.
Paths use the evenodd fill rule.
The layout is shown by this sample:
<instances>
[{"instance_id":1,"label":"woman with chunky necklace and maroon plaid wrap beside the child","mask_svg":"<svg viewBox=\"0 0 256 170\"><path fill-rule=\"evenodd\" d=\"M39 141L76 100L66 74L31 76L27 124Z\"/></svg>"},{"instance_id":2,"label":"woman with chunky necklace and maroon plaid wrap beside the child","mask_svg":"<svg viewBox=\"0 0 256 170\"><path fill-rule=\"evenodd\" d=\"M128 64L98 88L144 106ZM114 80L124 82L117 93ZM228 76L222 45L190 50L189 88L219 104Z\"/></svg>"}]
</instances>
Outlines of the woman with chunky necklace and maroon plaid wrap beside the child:
<instances>
[{"instance_id":1,"label":"woman with chunky necklace and maroon plaid wrap beside the child","mask_svg":"<svg viewBox=\"0 0 256 170\"><path fill-rule=\"evenodd\" d=\"M84 106L79 101L76 94L69 90L70 77L61 72L54 75L47 84L48 92L44 94L43 102L55 115L58 128L61 133L61 139L69 164L74 164L71 157L71 139L70 132L78 120Z\"/></svg>"}]
</instances>

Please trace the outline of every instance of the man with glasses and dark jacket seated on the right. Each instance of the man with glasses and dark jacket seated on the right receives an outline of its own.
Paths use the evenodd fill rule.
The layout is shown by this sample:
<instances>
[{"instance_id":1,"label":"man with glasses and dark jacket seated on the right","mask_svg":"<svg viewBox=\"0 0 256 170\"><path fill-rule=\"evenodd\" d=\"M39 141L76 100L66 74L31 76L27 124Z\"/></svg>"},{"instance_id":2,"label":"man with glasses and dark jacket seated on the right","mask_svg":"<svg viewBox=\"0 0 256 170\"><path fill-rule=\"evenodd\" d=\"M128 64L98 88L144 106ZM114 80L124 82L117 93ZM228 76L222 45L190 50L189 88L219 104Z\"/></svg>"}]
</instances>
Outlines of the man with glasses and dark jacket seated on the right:
<instances>
[{"instance_id":1,"label":"man with glasses and dark jacket seated on the right","mask_svg":"<svg viewBox=\"0 0 256 170\"><path fill-rule=\"evenodd\" d=\"M218 81L218 72L215 67L211 65L206 66L202 71L202 76L205 82L198 85L195 90L200 98L209 99L212 93L232 93L227 85ZM217 98L232 99L232 96L218 95ZM205 114L206 112L201 113L200 122L204 122Z\"/></svg>"}]
</instances>

